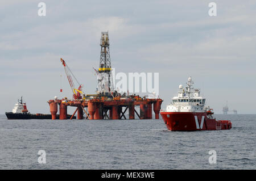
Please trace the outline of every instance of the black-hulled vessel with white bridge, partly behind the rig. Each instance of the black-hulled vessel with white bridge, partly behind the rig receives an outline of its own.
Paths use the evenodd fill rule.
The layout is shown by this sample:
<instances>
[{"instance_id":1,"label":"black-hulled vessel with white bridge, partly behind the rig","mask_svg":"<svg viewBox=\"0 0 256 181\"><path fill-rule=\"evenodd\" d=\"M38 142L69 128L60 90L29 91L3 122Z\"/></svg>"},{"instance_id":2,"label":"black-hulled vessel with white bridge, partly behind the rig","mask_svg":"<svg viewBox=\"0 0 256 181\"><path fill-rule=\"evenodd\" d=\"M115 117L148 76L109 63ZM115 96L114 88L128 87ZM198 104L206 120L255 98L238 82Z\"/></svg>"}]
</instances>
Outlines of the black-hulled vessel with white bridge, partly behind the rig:
<instances>
[{"instance_id":1,"label":"black-hulled vessel with white bridge, partly behind the rig","mask_svg":"<svg viewBox=\"0 0 256 181\"><path fill-rule=\"evenodd\" d=\"M22 97L15 104L13 112L5 113L7 119L52 119L51 114L36 113L32 114L28 112L26 103L22 102ZM71 115L67 115L67 119L70 119ZM59 115L56 115L56 119L59 119ZM76 116L73 116L76 119Z\"/></svg>"}]
</instances>

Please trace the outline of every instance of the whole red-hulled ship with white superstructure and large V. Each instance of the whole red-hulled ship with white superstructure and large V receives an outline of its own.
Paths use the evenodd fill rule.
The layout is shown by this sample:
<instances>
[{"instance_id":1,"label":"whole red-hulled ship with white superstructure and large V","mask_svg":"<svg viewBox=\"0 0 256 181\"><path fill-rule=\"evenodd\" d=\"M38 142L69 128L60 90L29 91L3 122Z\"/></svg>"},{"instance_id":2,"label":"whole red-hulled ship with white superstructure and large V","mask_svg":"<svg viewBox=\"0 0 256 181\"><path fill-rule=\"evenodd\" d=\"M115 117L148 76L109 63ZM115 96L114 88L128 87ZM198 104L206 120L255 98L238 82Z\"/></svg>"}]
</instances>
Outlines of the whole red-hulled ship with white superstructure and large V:
<instances>
[{"instance_id":1,"label":"whole red-hulled ship with white superstructure and large V","mask_svg":"<svg viewBox=\"0 0 256 181\"><path fill-rule=\"evenodd\" d=\"M172 98L166 110L160 111L166 127L170 131L205 131L231 129L230 120L216 120L213 110L205 106L205 98L200 89L193 89L192 78L188 78L185 89L179 86L178 96Z\"/></svg>"}]
</instances>

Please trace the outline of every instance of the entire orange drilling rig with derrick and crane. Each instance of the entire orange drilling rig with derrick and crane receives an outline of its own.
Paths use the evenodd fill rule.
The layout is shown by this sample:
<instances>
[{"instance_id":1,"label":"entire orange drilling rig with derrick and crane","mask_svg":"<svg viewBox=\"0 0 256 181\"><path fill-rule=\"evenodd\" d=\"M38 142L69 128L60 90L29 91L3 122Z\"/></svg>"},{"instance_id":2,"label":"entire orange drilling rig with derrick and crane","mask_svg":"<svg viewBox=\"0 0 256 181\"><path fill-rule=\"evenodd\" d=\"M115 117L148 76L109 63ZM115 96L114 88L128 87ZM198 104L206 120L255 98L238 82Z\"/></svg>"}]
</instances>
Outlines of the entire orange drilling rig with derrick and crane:
<instances>
[{"instance_id":1,"label":"entire orange drilling rig with derrick and crane","mask_svg":"<svg viewBox=\"0 0 256 181\"><path fill-rule=\"evenodd\" d=\"M76 107L70 119L77 113L77 119L128 119L126 111L129 109L129 119L135 119L135 113L139 119L152 119L152 107L155 119L159 119L159 111L163 102L159 96L139 96L129 95L129 92L120 94L113 89L112 68L109 52L108 32L101 32L101 56L100 68L94 69L97 73L98 88L97 94L85 95L82 92L82 85L77 81L67 63L60 58L67 74L69 85L73 93L73 100L67 98L49 100L49 108L52 119L56 119L59 105L59 119L67 119L67 107ZM75 88L73 79L78 83L79 88ZM62 90L60 90L62 91ZM139 113L135 107L139 107ZM124 110L123 110L124 108Z\"/></svg>"}]
</instances>

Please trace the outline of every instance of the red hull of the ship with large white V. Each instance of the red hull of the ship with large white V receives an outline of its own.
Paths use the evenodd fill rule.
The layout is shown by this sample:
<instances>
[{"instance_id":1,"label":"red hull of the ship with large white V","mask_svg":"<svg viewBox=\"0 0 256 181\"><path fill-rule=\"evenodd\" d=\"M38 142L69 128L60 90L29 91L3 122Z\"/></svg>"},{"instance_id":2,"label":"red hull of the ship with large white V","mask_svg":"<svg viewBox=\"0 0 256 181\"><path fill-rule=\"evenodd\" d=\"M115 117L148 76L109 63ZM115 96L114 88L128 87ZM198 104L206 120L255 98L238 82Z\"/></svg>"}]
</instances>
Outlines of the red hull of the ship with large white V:
<instances>
[{"instance_id":1,"label":"red hull of the ship with large white V","mask_svg":"<svg viewBox=\"0 0 256 181\"><path fill-rule=\"evenodd\" d=\"M207 112L160 112L170 131L205 131L231 129L229 120L212 119Z\"/></svg>"}]
</instances>

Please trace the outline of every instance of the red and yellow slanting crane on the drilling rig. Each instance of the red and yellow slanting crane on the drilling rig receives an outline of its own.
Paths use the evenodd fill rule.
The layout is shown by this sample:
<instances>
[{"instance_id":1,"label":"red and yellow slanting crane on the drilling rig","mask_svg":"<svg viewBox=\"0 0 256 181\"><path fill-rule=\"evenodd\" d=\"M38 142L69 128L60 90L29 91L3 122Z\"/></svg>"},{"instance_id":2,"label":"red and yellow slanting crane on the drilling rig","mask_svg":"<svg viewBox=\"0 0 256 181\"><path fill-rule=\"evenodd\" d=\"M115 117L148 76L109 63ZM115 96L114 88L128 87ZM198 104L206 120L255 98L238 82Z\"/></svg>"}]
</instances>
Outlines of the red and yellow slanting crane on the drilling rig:
<instances>
[{"instance_id":1,"label":"red and yellow slanting crane on the drilling rig","mask_svg":"<svg viewBox=\"0 0 256 181\"><path fill-rule=\"evenodd\" d=\"M82 85L77 81L75 75L69 69L67 63L62 58L60 58L60 61L61 61L61 63L64 66L65 73L67 75L68 82L69 82L69 85L70 85L72 93L73 93L73 99L82 99L82 94L84 94L84 92L82 92ZM79 88L78 89L75 89L75 84L73 82L72 77L75 78L76 82L79 84Z\"/></svg>"}]
</instances>

